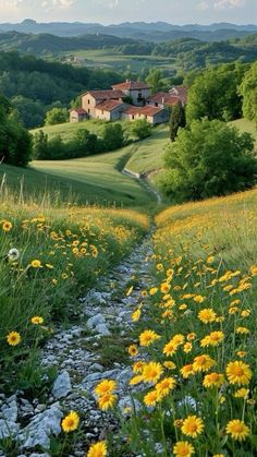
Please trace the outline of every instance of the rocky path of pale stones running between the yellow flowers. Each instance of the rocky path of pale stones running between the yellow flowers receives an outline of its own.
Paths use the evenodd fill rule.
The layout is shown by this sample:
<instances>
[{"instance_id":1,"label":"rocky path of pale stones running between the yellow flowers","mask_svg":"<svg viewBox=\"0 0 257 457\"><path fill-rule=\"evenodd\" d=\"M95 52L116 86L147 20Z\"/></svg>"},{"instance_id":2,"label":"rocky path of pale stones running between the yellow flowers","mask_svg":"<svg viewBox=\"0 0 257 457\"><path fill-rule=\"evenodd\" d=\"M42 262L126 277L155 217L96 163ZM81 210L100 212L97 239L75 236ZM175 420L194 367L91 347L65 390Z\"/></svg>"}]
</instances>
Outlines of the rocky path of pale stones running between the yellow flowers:
<instances>
[{"instance_id":1,"label":"rocky path of pale stones running between the yellow flowers","mask_svg":"<svg viewBox=\"0 0 257 457\"><path fill-rule=\"evenodd\" d=\"M105 438L115 429L115 420L96 406L94 387L102 378L118 382L121 411L130 406L127 381L131 368L126 346L131 342L132 312L142 290L149 284L150 236L136 246L120 266L99 279L81 299L79 315L66 328L58 328L41 354L42 366L56 366L58 377L48 399L27 401L22 395L0 395L0 438L12 435L19 443L14 454L0 457L47 457L33 453L38 446L49 449L50 436L61 432L60 421L70 410L81 412L84 435L72 456L85 456L86 443ZM130 286L133 291L126 296ZM2 418L2 419L1 419ZM24 424L24 419L26 426Z\"/></svg>"}]
</instances>

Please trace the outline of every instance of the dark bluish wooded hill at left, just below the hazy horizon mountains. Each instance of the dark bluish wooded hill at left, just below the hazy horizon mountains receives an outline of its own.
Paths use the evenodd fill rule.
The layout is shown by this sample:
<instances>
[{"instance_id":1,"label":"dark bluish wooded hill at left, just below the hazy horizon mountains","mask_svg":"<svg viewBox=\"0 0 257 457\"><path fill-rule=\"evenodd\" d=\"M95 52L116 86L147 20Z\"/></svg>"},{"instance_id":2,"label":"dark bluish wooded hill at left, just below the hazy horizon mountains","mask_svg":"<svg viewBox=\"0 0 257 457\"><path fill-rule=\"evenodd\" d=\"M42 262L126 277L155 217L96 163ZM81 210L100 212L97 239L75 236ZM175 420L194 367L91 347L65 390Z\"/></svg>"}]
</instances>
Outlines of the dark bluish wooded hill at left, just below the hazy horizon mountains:
<instances>
[{"instance_id":1,"label":"dark bluish wooded hill at left, just below the hazy horizon mountains","mask_svg":"<svg viewBox=\"0 0 257 457\"><path fill-rule=\"evenodd\" d=\"M20 32L0 33L0 50L19 50L35 56L48 52L59 53L77 49L99 49L135 43L130 38L111 35L87 34L76 37L60 37L51 34L25 34Z\"/></svg>"}]
</instances>

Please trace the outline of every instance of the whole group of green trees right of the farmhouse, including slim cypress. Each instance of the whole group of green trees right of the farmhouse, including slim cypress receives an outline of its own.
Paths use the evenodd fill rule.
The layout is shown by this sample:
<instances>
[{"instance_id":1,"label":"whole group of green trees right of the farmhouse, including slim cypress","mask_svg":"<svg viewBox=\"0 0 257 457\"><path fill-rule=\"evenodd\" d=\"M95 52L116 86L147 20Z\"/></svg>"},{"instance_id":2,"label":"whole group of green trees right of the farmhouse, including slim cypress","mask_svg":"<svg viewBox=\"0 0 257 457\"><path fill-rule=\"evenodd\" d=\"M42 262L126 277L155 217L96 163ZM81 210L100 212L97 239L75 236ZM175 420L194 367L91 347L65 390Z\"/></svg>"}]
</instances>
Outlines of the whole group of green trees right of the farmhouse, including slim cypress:
<instances>
[{"instance_id":1,"label":"whole group of green trees right of the farmhouse, including slim cypress","mask_svg":"<svg viewBox=\"0 0 257 457\"><path fill-rule=\"evenodd\" d=\"M175 201L200 200L257 182L254 139L225 121L242 116L257 127L257 63L221 65L194 79L186 110L171 113L162 189Z\"/></svg>"}]
</instances>

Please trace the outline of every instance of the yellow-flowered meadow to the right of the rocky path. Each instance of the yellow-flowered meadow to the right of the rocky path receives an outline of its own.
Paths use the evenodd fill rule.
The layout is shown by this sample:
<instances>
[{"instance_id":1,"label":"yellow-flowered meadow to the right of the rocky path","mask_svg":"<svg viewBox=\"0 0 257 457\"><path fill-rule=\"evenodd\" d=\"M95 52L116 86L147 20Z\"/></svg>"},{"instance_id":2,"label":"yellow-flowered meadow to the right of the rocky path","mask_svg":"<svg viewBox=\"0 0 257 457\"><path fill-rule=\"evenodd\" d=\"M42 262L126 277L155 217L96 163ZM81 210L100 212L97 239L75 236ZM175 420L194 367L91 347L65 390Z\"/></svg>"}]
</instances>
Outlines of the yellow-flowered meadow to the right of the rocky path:
<instances>
[{"instance_id":1,"label":"yellow-flowered meadow to the right of the rocky path","mask_svg":"<svg viewBox=\"0 0 257 457\"><path fill-rule=\"evenodd\" d=\"M127 450L257 454L256 205L253 190L156 216L152 281L127 348L137 405L122 421Z\"/></svg>"}]
</instances>

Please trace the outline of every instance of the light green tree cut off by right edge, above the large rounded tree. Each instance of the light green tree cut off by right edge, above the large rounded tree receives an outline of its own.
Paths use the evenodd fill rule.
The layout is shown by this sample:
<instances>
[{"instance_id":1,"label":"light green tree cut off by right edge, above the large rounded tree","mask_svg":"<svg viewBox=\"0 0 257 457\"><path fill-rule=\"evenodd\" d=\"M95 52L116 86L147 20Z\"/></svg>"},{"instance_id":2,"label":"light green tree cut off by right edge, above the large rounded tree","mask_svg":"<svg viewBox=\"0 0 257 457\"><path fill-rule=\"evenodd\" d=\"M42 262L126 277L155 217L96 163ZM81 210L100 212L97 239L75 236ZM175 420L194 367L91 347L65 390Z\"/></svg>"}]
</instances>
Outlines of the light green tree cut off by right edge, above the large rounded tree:
<instances>
[{"instance_id":1,"label":"light green tree cut off by right edge, above the large rounded tree","mask_svg":"<svg viewBox=\"0 0 257 457\"><path fill-rule=\"evenodd\" d=\"M257 124L257 62L253 63L245 73L240 86L240 94L243 96L243 113Z\"/></svg>"}]
</instances>

